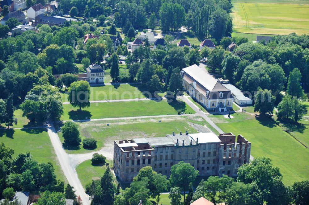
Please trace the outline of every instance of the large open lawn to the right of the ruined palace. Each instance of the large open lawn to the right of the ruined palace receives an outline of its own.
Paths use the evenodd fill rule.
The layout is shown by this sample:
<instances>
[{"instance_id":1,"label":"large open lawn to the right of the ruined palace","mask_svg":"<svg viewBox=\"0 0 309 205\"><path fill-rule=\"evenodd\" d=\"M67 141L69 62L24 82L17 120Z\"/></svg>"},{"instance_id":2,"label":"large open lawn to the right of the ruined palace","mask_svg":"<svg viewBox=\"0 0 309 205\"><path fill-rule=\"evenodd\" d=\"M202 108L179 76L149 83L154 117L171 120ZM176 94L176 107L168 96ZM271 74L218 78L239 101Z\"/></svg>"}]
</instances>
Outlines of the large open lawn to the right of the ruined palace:
<instances>
[{"instance_id":1,"label":"large open lawn to the right of the ruined palace","mask_svg":"<svg viewBox=\"0 0 309 205\"><path fill-rule=\"evenodd\" d=\"M245 113L243 113L245 114ZM283 182L292 185L309 178L309 150L269 118L217 123L224 132L242 134L251 144L253 157L269 157L280 168Z\"/></svg>"}]
</instances>

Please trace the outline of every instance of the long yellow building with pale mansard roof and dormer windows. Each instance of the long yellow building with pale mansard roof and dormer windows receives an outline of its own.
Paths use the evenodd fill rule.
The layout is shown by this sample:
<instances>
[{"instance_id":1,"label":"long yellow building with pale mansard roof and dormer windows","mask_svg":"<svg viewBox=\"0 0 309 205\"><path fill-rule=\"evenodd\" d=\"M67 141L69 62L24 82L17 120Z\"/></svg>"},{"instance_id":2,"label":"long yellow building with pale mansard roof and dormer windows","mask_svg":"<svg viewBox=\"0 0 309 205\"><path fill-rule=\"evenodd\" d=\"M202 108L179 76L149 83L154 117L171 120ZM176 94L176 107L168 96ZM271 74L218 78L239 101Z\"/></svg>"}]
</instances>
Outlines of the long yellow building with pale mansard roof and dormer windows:
<instances>
[{"instance_id":1,"label":"long yellow building with pale mansard roof and dormer windows","mask_svg":"<svg viewBox=\"0 0 309 205\"><path fill-rule=\"evenodd\" d=\"M181 71L183 86L186 92L208 110L226 112L232 108L233 96L205 68L196 64Z\"/></svg>"}]
</instances>

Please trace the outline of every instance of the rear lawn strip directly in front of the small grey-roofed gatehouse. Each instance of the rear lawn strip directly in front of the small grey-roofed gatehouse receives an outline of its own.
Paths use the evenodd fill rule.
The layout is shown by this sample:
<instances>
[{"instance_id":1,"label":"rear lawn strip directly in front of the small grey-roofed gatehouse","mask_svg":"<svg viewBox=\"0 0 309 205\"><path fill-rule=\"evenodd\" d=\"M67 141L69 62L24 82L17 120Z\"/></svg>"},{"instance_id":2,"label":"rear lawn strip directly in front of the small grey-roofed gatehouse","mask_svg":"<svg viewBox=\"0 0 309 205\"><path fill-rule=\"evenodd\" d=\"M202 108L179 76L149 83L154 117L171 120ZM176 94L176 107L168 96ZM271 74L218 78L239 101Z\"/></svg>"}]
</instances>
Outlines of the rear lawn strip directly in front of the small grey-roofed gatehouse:
<instances>
[{"instance_id":1,"label":"rear lawn strip directly in front of the small grey-roofed gatehouse","mask_svg":"<svg viewBox=\"0 0 309 205\"><path fill-rule=\"evenodd\" d=\"M69 102L68 95L61 91L63 102ZM105 85L90 87L90 101L94 100L120 100L120 99L134 99L146 98L138 89L137 85L120 84L120 85Z\"/></svg>"}]
</instances>

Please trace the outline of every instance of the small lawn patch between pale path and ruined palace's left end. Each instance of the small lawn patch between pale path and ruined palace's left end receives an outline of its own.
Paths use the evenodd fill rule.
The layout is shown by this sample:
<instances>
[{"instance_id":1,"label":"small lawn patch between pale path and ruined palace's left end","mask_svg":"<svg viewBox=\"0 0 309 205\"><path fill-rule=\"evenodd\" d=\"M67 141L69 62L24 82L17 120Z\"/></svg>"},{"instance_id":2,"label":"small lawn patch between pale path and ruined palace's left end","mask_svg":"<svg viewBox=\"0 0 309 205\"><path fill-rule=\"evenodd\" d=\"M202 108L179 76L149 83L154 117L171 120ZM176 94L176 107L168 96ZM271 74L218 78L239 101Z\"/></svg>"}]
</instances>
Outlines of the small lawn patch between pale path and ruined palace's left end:
<instances>
[{"instance_id":1,"label":"small lawn patch between pale path and ruined palace's left end","mask_svg":"<svg viewBox=\"0 0 309 205\"><path fill-rule=\"evenodd\" d=\"M112 161L109 160L108 162L109 162L109 166L113 166ZM89 159L85 162L80 163L76 167L76 172L77 172L80 182L85 188L87 183L92 182L92 180L96 180L102 177L106 169L107 167L105 165L93 166L91 164L91 160Z\"/></svg>"}]
</instances>

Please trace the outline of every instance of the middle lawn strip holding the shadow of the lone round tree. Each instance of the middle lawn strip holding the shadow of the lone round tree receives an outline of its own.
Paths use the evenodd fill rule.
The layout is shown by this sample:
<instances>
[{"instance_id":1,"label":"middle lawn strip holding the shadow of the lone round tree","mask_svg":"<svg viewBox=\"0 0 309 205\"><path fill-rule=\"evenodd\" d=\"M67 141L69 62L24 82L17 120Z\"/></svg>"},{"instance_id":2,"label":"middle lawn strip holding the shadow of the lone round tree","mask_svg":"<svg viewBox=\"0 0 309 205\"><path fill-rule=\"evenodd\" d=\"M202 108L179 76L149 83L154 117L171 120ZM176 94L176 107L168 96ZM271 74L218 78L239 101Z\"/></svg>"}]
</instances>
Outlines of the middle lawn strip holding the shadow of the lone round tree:
<instances>
[{"instance_id":1,"label":"middle lawn strip holding the shadow of the lone round tree","mask_svg":"<svg viewBox=\"0 0 309 205\"><path fill-rule=\"evenodd\" d=\"M111 117L136 117L153 115L175 115L180 109L184 113L195 113L192 108L182 101L167 100L155 102L154 100L91 103L89 108L79 111L70 104L63 105L64 115L61 120L81 120L86 117L92 119Z\"/></svg>"}]
</instances>

